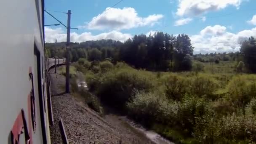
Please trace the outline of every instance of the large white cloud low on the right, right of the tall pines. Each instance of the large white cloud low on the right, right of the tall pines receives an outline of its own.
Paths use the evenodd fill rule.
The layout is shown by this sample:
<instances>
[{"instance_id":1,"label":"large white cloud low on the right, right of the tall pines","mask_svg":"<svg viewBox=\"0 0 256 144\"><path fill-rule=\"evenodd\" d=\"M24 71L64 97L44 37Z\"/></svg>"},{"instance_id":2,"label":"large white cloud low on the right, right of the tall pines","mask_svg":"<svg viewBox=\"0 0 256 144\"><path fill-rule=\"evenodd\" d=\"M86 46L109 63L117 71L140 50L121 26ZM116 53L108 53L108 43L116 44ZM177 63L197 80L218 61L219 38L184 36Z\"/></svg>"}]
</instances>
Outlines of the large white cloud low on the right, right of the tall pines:
<instances>
[{"instance_id":1,"label":"large white cloud low on the right, right of the tall pines","mask_svg":"<svg viewBox=\"0 0 256 144\"><path fill-rule=\"evenodd\" d=\"M256 27L238 33L227 32L227 28L220 25L208 26L198 35L190 36L195 47L194 53L232 52L239 51L240 42L256 36Z\"/></svg>"}]
</instances>

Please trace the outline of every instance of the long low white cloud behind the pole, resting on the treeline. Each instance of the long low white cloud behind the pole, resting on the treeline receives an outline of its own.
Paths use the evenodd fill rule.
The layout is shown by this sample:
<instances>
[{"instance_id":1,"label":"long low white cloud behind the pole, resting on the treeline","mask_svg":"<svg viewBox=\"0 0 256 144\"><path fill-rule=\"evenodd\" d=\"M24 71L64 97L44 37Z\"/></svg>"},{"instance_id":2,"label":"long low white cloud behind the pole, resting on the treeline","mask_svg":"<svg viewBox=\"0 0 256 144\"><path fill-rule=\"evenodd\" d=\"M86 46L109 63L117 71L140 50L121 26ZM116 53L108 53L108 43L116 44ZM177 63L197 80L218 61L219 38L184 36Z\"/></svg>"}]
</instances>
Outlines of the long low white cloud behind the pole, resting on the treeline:
<instances>
[{"instance_id":1,"label":"long low white cloud behind the pole, resting on the treeline","mask_svg":"<svg viewBox=\"0 0 256 144\"><path fill-rule=\"evenodd\" d=\"M131 38L130 34L123 34L118 31L104 32L99 35L92 35L91 32L83 32L82 34L77 34L76 32L72 32L70 34L71 42L84 42L87 40L101 40L101 39L112 39L112 40L120 40L125 41L128 38ZM48 43L53 43L55 40L58 42L64 42L67 40L67 34L62 31L61 28L51 29L49 27L45 27L45 41Z\"/></svg>"}]
</instances>

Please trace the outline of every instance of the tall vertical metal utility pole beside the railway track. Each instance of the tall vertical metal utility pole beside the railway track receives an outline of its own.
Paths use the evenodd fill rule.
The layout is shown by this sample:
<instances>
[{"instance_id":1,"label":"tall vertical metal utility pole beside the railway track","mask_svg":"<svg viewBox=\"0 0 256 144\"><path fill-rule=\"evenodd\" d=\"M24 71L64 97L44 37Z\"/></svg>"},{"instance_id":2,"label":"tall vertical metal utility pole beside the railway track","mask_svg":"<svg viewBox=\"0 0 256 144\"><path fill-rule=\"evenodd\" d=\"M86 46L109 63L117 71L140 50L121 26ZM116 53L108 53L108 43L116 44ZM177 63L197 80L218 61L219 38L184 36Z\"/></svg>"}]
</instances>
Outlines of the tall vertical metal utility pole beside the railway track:
<instances>
[{"instance_id":1,"label":"tall vertical metal utility pole beside the railway track","mask_svg":"<svg viewBox=\"0 0 256 144\"><path fill-rule=\"evenodd\" d=\"M67 53L66 53L66 93L69 93L69 43L70 43L70 16L71 11L67 12Z\"/></svg>"}]
</instances>

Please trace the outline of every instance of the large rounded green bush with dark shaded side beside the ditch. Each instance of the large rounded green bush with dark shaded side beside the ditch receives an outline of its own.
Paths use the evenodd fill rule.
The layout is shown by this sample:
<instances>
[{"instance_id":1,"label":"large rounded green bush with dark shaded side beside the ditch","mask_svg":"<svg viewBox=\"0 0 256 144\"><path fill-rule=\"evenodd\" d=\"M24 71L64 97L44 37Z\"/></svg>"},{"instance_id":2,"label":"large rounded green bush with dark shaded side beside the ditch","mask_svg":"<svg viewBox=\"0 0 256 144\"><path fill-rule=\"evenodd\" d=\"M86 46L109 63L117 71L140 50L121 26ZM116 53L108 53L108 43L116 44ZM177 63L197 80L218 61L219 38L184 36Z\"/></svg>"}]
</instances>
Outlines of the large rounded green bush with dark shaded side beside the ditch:
<instances>
[{"instance_id":1,"label":"large rounded green bush with dark shaded side beside the ditch","mask_svg":"<svg viewBox=\"0 0 256 144\"><path fill-rule=\"evenodd\" d=\"M144 71L123 68L113 69L101 75L97 94L107 103L124 106L131 97L132 90L149 91L154 87L154 75Z\"/></svg>"}]
</instances>

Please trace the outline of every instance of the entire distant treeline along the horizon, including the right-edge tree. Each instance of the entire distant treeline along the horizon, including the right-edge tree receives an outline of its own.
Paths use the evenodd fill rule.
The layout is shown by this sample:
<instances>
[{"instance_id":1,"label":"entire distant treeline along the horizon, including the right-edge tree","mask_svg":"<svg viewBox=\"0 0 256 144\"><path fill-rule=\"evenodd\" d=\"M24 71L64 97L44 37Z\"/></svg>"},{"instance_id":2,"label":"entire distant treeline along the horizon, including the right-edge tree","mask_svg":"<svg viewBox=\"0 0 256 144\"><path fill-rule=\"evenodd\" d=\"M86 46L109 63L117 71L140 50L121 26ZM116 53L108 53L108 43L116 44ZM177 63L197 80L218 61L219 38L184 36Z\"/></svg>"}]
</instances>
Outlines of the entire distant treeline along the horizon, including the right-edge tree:
<instances>
[{"instance_id":1,"label":"entire distant treeline along the horizon, including the right-edge tree","mask_svg":"<svg viewBox=\"0 0 256 144\"><path fill-rule=\"evenodd\" d=\"M115 40L96 40L71 44L71 60L80 58L88 61L111 59L113 63L124 61L137 68L152 71L189 71L192 60L200 62L241 61L247 72L256 72L256 42L250 37L241 44L240 52L207 53L193 55L193 47L188 35L173 36L163 32L154 35L135 35L124 43ZM46 43L49 57L65 57L66 45Z\"/></svg>"}]
</instances>

